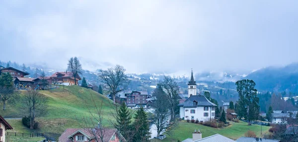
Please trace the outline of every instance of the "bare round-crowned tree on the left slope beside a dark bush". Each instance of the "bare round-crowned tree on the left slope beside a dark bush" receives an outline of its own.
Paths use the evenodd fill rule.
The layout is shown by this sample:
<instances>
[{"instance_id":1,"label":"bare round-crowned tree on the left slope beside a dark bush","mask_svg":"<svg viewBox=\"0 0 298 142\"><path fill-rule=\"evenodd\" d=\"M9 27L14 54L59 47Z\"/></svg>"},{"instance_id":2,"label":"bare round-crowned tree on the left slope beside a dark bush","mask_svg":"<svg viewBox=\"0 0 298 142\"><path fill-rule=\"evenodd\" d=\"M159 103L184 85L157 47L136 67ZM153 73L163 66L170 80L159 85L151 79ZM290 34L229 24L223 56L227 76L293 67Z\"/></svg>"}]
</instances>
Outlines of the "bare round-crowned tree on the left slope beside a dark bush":
<instances>
[{"instance_id":1,"label":"bare round-crowned tree on the left slope beside a dark bush","mask_svg":"<svg viewBox=\"0 0 298 142\"><path fill-rule=\"evenodd\" d=\"M47 113L48 99L38 90L29 89L23 96L23 110L30 118L30 129L34 127L35 118L43 116Z\"/></svg>"}]
</instances>

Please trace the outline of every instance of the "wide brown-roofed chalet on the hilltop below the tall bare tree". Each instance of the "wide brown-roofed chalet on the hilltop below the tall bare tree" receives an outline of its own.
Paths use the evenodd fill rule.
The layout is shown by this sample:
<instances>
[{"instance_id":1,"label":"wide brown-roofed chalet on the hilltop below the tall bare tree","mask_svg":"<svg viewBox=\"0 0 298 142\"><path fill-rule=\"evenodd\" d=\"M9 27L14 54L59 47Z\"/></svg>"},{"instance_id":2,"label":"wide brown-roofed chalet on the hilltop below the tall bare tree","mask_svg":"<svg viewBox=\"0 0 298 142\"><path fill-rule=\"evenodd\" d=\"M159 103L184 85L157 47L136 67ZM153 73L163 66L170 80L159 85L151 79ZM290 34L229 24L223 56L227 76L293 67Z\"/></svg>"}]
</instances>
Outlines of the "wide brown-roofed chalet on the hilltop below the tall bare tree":
<instances>
[{"instance_id":1,"label":"wide brown-roofed chalet on the hilltop below the tall bare tree","mask_svg":"<svg viewBox=\"0 0 298 142\"><path fill-rule=\"evenodd\" d=\"M80 76L78 74L74 75L72 72L55 72L52 76L50 76L53 84L60 84L60 85L74 85L77 84L78 80L81 80Z\"/></svg>"}]
</instances>

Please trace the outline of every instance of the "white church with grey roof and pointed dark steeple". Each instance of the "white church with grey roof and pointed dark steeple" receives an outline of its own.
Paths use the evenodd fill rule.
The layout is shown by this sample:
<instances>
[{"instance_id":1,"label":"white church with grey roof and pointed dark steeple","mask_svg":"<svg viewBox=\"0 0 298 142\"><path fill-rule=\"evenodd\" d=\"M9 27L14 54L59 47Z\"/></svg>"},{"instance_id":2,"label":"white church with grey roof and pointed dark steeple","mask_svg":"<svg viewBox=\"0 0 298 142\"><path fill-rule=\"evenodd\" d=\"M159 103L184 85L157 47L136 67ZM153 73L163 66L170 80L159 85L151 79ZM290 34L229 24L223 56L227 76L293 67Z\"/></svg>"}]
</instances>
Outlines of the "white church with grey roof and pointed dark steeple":
<instances>
[{"instance_id":1,"label":"white church with grey roof and pointed dark steeple","mask_svg":"<svg viewBox=\"0 0 298 142\"><path fill-rule=\"evenodd\" d=\"M197 93L197 84L191 71L188 82L188 98L180 103L180 118L184 120L207 121L215 118L216 104L210 102L205 96Z\"/></svg>"}]
</instances>

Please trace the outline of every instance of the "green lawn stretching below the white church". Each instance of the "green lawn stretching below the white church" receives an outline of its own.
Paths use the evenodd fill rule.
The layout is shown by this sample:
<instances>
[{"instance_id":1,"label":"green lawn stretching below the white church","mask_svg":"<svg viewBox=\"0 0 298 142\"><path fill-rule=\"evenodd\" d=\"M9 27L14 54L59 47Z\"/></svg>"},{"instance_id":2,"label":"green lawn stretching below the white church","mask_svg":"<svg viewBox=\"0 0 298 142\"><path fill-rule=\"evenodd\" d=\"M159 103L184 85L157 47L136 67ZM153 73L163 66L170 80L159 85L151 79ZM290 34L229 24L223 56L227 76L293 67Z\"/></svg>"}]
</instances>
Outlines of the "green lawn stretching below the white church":
<instances>
[{"instance_id":1,"label":"green lawn stretching below the white church","mask_svg":"<svg viewBox=\"0 0 298 142\"><path fill-rule=\"evenodd\" d=\"M268 126L262 126L262 134L268 133L269 128L270 127ZM171 136L167 135L167 138L164 139L162 142L177 142L177 140L181 142L187 138L192 138L192 133L195 130L200 130L202 132L203 138L215 134L220 134L230 139L236 140L240 137L243 137L248 130L253 131L257 135L257 137L261 137L261 126L248 126L247 123L242 121L239 121L239 123L231 122L231 125L226 128L212 128L200 124L187 123L181 121L178 123L176 128L170 131ZM159 141L153 140L153 142Z\"/></svg>"}]
</instances>

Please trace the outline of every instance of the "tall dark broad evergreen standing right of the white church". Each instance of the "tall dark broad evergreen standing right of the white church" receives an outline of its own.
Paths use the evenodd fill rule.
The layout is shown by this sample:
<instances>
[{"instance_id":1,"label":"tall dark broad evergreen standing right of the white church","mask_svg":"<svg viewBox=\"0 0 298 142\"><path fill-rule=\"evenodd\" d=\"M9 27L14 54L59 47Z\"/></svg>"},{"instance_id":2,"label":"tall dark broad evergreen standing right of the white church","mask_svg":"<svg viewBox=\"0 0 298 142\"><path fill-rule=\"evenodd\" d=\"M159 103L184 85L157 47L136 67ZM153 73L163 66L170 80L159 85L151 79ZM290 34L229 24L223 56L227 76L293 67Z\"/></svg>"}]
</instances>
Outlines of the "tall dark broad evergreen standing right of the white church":
<instances>
[{"instance_id":1,"label":"tall dark broad evergreen standing right of the white church","mask_svg":"<svg viewBox=\"0 0 298 142\"><path fill-rule=\"evenodd\" d=\"M257 96L256 83L253 80L243 79L236 83L237 92L239 95L238 115L248 120L248 125L251 125L250 120L256 120L259 116L259 98Z\"/></svg>"}]
</instances>

